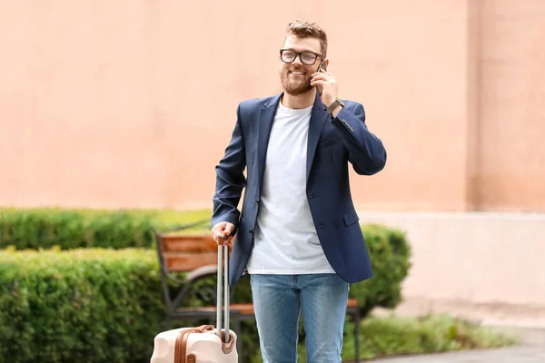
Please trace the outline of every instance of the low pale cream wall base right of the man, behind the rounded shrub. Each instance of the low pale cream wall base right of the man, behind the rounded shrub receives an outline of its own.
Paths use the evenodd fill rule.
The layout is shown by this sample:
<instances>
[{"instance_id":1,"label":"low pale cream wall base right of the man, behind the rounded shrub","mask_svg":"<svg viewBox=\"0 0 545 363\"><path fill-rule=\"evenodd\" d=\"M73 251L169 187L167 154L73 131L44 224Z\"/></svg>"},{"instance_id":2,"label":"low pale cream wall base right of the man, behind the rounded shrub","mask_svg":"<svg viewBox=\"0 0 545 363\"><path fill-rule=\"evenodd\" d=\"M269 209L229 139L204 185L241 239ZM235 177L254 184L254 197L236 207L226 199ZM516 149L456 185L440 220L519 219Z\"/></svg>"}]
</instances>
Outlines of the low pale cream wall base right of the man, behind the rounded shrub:
<instances>
[{"instance_id":1,"label":"low pale cream wall base right of the man, behind the rounded shrub","mask_svg":"<svg viewBox=\"0 0 545 363\"><path fill-rule=\"evenodd\" d=\"M545 326L543 213L361 212L411 240L399 313Z\"/></svg>"}]
</instances>

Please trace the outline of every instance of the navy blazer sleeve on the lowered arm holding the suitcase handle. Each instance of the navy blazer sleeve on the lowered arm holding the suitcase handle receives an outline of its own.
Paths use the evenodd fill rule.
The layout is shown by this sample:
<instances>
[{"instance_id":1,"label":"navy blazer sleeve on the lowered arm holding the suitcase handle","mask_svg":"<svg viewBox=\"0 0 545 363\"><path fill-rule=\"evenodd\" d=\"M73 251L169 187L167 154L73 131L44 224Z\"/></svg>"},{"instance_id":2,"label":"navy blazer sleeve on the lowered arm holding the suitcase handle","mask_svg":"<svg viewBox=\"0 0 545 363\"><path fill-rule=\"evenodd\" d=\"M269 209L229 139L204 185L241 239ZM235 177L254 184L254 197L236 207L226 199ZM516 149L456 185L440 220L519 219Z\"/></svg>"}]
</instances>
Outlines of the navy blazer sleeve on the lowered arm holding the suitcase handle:
<instances>
[{"instance_id":1,"label":"navy blazer sleeve on the lowered arm holding the suitcase handle","mask_svg":"<svg viewBox=\"0 0 545 363\"><path fill-rule=\"evenodd\" d=\"M237 206L241 200L243 188L246 186L243 173L246 168L246 153L240 109L239 104L231 141L225 149L223 158L215 167L216 184L212 216L212 226L221 221L227 221L233 223L235 231L241 214Z\"/></svg>"}]
</instances>

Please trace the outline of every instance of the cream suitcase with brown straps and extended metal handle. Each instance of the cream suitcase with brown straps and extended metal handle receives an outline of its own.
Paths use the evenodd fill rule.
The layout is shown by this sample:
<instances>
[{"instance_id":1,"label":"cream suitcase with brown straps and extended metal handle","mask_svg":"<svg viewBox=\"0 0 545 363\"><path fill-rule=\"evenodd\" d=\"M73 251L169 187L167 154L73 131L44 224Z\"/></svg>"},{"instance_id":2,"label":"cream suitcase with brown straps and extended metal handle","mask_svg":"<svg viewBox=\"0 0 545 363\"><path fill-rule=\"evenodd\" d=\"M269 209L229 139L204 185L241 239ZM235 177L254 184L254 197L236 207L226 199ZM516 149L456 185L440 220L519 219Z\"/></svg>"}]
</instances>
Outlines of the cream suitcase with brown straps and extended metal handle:
<instances>
[{"instance_id":1,"label":"cream suitcase with brown straps and extended metal handle","mask_svg":"<svg viewBox=\"0 0 545 363\"><path fill-rule=\"evenodd\" d=\"M225 257L222 269L223 256ZM237 336L229 329L229 247L218 245L218 286L216 326L172 329L154 338L151 363L238 363ZM223 289L222 289L223 270ZM222 329L222 290L224 299ZM225 334L229 331L229 334Z\"/></svg>"}]
</instances>

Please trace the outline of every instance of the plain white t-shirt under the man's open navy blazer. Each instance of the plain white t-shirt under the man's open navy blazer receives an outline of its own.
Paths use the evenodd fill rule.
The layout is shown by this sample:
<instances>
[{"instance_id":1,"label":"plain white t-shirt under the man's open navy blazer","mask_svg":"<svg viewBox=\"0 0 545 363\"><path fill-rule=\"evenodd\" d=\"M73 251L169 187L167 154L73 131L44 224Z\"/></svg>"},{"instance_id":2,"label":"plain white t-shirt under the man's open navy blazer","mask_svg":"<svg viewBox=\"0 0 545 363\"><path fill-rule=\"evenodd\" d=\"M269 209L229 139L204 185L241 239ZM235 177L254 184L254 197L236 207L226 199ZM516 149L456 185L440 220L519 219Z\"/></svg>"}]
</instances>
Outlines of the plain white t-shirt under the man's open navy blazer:
<instances>
[{"instance_id":1,"label":"plain white t-shirt under the man's open navy blazer","mask_svg":"<svg viewBox=\"0 0 545 363\"><path fill-rule=\"evenodd\" d=\"M306 158L312 106L279 103L273 123L250 274L334 273L318 240L306 198Z\"/></svg>"}]
</instances>

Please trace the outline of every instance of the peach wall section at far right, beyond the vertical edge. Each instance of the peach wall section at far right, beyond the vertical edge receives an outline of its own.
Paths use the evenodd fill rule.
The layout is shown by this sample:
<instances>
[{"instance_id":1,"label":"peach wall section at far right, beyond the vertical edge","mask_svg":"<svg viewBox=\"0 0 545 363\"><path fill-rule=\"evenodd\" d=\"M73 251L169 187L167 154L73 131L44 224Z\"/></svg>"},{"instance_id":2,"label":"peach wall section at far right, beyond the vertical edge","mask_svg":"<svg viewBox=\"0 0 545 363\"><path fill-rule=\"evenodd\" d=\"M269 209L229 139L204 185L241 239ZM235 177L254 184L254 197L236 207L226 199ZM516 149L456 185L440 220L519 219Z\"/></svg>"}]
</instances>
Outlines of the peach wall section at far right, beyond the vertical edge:
<instances>
[{"instance_id":1,"label":"peach wall section at far right, beyond the vertical edge","mask_svg":"<svg viewBox=\"0 0 545 363\"><path fill-rule=\"evenodd\" d=\"M477 203L545 211L545 2L482 2Z\"/></svg>"}]
</instances>

